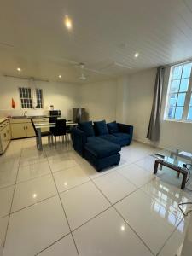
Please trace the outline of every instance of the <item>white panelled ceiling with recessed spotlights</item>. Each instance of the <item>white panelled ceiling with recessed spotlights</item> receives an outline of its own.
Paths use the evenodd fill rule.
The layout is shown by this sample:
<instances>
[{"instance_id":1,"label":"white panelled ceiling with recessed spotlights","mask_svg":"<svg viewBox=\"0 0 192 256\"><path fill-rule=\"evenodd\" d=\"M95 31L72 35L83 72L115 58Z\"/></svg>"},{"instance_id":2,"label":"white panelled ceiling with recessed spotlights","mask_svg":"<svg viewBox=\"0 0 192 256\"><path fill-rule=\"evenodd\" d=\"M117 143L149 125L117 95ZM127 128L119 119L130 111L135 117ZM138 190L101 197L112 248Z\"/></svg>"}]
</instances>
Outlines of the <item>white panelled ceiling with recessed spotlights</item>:
<instances>
[{"instance_id":1,"label":"white panelled ceiling with recessed spotlights","mask_svg":"<svg viewBox=\"0 0 192 256\"><path fill-rule=\"evenodd\" d=\"M84 62L90 82L191 57L192 0L0 0L2 74L80 82Z\"/></svg>"}]
</instances>

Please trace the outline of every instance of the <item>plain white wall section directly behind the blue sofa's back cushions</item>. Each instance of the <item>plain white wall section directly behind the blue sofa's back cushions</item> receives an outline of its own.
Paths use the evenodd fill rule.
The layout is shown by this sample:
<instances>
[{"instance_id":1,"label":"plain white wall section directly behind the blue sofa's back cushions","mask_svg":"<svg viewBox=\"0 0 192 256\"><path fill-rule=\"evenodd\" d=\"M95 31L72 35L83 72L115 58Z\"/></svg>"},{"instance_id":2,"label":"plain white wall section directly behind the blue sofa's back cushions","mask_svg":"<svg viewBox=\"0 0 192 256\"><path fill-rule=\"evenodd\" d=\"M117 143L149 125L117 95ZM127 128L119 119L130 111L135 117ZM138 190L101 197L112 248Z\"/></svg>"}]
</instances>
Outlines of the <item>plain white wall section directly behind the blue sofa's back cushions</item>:
<instances>
[{"instance_id":1,"label":"plain white wall section directly behind the blue sofa's back cushions","mask_svg":"<svg viewBox=\"0 0 192 256\"><path fill-rule=\"evenodd\" d=\"M116 80L83 84L81 106L89 113L90 120L113 121L116 119Z\"/></svg>"}]
</instances>

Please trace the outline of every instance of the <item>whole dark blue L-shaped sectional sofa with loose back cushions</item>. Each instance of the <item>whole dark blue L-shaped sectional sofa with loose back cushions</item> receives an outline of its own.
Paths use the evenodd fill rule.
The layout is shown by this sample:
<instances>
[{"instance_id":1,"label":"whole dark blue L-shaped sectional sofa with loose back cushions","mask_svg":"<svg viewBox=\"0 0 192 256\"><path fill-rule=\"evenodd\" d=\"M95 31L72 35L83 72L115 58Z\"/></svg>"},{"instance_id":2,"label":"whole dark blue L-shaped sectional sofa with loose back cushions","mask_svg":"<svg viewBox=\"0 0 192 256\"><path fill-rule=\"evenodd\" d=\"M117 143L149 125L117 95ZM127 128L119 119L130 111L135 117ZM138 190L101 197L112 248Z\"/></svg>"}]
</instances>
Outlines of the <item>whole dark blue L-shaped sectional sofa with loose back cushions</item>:
<instances>
[{"instance_id":1,"label":"whole dark blue L-shaped sectional sofa with loose back cushions","mask_svg":"<svg viewBox=\"0 0 192 256\"><path fill-rule=\"evenodd\" d=\"M131 144L133 126L105 120L79 123L72 129L73 148L97 171L118 165L121 147Z\"/></svg>"}]
</instances>

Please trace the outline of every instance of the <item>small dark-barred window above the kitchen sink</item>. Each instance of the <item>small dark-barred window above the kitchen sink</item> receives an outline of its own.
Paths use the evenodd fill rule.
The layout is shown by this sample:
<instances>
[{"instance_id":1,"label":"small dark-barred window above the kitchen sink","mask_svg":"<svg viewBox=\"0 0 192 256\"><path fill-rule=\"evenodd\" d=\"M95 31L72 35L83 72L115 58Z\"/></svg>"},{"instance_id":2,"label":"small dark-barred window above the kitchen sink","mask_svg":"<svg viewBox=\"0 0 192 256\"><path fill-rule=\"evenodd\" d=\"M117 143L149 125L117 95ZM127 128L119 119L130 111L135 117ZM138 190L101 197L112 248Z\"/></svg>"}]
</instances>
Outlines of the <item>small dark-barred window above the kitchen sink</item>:
<instances>
[{"instance_id":1,"label":"small dark-barred window above the kitchen sink","mask_svg":"<svg viewBox=\"0 0 192 256\"><path fill-rule=\"evenodd\" d=\"M44 108L42 89L32 90L28 87L20 87L19 91L21 108Z\"/></svg>"}]
</instances>

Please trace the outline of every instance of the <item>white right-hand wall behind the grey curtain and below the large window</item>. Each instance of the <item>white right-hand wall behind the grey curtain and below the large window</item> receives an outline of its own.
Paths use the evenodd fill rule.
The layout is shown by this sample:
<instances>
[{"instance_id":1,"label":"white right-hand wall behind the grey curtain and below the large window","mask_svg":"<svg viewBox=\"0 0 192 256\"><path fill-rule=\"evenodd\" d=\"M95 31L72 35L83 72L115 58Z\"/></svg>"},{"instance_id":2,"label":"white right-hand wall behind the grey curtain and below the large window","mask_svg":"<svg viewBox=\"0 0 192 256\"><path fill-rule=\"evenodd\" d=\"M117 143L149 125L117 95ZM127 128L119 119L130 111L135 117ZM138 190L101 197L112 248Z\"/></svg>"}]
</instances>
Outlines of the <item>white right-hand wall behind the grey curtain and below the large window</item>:
<instances>
[{"instance_id":1,"label":"white right-hand wall behind the grey curtain and below the large window","mask_svg":"<svg viewBox=\"0 0 192 256\"><path fill-rule=\"evenodd\" d=\"M154 96L156 68L132 74L127 83L125 123L134 125L134 138L143 143L151 143L147 138L148 123ZM166 68L161 109L160 142L151 143L161 148L178 147L192 151L192 124L163 119L169 68Z\"/></svg>"}]
</instances>

